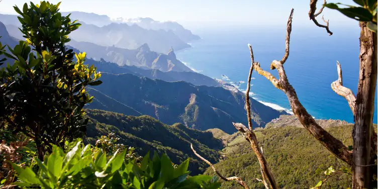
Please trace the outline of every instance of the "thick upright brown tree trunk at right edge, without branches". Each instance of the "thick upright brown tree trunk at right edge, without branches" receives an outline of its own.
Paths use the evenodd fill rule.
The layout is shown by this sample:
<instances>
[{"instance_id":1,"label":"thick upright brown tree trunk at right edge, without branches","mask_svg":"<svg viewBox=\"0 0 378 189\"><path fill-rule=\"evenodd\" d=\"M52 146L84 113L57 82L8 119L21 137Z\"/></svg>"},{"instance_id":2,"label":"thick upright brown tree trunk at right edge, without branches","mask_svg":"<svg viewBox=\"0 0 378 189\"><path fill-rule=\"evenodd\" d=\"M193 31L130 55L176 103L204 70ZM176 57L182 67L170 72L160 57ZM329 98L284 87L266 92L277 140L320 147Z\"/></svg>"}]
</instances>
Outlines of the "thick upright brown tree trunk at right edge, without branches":
<instances>
[{"instance_id":1,"label":"thick upright brown tree trunk at right edge, without branches","mask_svg":"<svg viewBox=\"0 0 378 189\"><path fill-rule=\"evenodd\" d=\"M377 35L360 22L359 81L353 127L353 188L373 188L374 151L373 133L374 96L377 79Z\"/></svg>"}]
</instances>

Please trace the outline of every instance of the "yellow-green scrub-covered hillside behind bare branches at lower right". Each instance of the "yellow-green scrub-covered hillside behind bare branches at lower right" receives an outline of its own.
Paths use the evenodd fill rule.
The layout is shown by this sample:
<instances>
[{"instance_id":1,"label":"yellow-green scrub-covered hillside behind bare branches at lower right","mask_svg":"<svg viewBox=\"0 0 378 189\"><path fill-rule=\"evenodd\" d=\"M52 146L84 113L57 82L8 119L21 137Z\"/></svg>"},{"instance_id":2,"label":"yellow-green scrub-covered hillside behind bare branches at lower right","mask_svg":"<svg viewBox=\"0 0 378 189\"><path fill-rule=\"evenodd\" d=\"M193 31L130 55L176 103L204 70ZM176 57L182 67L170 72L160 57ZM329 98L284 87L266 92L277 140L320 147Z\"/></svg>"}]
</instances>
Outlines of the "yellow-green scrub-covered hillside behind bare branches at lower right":
<instances>
[{"instance_id":1,"label":"yellow-green scrub-covered hillside behind bare branches at lower right","mask_svg":"<svg viewBox=\"0 0 378 189\"><path fill-rule=\"evenodd\" d=\"M294 116L280 118L295 120ZM352 125L336 126L339 121L335 120L318 121L345 145L352 144ZM325 178L324 171L329 166L333 166L335 170L346 166L346 163L328 152L303 127L282 126L281 123L273 122L266 124L269 128L257 129L255 133L279 188L310 188ZM222 139L226 141L226 147L221 151L225 160L215 164L215 167L225 176L237 175L243 178L250 188L264 188L255 179L261 178L261 174L250 144L240 133L223 136ZM205 173L214 174L209 168ZM351 187L350 183L351 177L343 174L330 178L324 188L347 188ZM221 188L240 188L240 186L235 182L223 182Z\"/></svg>"}]
</instances>

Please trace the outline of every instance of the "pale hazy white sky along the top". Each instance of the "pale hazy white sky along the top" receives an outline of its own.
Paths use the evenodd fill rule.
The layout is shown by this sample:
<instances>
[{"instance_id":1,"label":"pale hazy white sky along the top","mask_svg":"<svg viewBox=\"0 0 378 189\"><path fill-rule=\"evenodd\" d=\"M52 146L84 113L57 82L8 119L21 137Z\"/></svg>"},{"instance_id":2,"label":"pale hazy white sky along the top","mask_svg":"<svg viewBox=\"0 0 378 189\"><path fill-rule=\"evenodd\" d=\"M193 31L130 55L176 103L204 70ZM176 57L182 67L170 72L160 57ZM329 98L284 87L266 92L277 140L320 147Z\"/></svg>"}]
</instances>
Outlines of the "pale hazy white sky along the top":
<instances>
[{"instance_id":1,"label":"pale hazy white sky along the top","mask_svg":"<svg viewBox=\"0 0 378 189\"><path fill-rule=\"evenodd\" d=\"M15 14L12 6L22 7L26 0L3 0L0 13ZM29 2L29 1L28 1ZM40 1L32 1L39 4ZM51 0L51 3L60 1ZM286 25L291 8L294 8L296 24L309 25L309 0L61 0L60 9L108 15L109 17L150 17L158 21L177 21L184 26L196 27L204 25ZM334 0L355 5L352 0ZM320 0L318 7L323 2ZM318 8L318 10L319 10ZM325 9L326 19L330 25L355 24L339 12ZM319 20L321 16L319 16ZM322 21L320 20L322 23Z\"/></svg>"}]
</instances>

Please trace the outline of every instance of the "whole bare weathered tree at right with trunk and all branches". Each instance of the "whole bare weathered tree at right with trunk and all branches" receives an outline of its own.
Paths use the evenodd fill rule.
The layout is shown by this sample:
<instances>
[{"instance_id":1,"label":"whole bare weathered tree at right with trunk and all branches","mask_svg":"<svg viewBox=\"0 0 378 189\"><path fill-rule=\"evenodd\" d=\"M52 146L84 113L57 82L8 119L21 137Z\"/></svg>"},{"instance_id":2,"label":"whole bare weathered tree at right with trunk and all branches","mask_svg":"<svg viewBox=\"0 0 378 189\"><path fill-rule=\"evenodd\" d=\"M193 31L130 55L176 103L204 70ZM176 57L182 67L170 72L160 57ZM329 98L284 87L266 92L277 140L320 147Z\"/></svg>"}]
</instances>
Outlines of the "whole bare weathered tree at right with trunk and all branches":
<instances>
[{"instance_id":1,"label":"whole bare weathered tree at right with trunk and all branches","mask_svg":"<svg viewBox=\"0 0 378 189\"><path fill-rule=\"evenodd\" d=\"M377 159L377 135L372 127L372 117L374 113L374 96L377 79L377 3L376 1L367 0L355 0L354 2L361 7L347 6L347 8L339 8L338 5L340 4L326 4L326 2L324 2L324 5L320 9L320 11L316 13L317 0L311 0L309 12L310 20L312 20L316 26L325 28L329 35L333 34L329 30L329 21L326 21L322 17L322 20L326 23L326 25L321 25L316 20L316 17L322 13L325 7L336 9L344 15L359 21L359 27L361 28L359 55L360 72L357 96L354 96L353 92L350 89L342 85L342 72L339 62L337 62L339 78L331 84L332 89L348 101L348 104L354 115L355 123L352 132L353 151L351 151L350 147L346 147L340 140L333 137L315 122L314 118L302 106L294 87L288 80L284 69L284 64L289 58L290 34L292 31L292 17L294 10L291 11L287 24L285 55L281 60L273 60L270 63L270 69L277 69L279 75L278 78L273 76L271 73L263 70L260 67L260 64L254 61L252 46L248 44L251 54L251 68L249 71L246 91L246 107L249 127L247 128L240 123L234 123L234 126L238 131L242 132L246 140L251 143L251 147L260 162L261 174L263 178L261 181L264 183L264 186L266 188L278 188L278 186L264 158L262 149L260 149L258 146L256 136L252 130L252 123L250 121L250 101L248 93L250 89L250 78L253 70L255 70L258 74L266 77L274 87L285 92L294 115L298 118L301 124L324 147L326 147L327 150L329 150L336 157L345 161L352 167L353 188L372 188L373 186L376 187L376 181L373 180L373 174L376 173L377 167L377 165L374 164L375 160ZM208 164L211 165L210 162L208 162ZM214 167L213 169L218 175L220 175ZM221 176L221 178L223 177ZM248 188L248 186L243 185L238 179L236 180L240 185ZM225 180L231 179L226 178ZM320 187L321 182L320 185L317 184L317 186Z\"/></svg>"}]
</instances>

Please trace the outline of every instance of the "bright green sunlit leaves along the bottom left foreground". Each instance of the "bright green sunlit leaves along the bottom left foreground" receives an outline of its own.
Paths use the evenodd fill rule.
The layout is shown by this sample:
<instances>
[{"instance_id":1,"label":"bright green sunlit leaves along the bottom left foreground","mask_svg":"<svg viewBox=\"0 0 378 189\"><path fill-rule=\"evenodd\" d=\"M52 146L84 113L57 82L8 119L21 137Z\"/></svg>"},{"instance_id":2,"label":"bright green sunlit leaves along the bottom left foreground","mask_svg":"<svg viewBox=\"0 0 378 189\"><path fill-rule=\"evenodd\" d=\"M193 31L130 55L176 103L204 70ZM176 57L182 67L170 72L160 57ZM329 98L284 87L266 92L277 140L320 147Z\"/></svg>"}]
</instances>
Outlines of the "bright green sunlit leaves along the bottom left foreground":
<instances>
[{"instance_id":1,"label":"bright green sunlit leaves along the bottom left foreground","mask_svg":"<svg viewBox=\"0 0 378 189\"><path fill-rule=\"evenodd\" d=\"M22 187L41 188L208 188L220 187L216 178L208 175L188 176L189 160L176 168L167 155L149 153L140 166L134 160L125 160L127 150L118 151L107 161L106 153L90 145L77 143L68 153L53 145L53 151L42 162L39 170L21 168L13 163Z\"/></svg>"}]
</instances>

